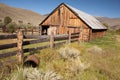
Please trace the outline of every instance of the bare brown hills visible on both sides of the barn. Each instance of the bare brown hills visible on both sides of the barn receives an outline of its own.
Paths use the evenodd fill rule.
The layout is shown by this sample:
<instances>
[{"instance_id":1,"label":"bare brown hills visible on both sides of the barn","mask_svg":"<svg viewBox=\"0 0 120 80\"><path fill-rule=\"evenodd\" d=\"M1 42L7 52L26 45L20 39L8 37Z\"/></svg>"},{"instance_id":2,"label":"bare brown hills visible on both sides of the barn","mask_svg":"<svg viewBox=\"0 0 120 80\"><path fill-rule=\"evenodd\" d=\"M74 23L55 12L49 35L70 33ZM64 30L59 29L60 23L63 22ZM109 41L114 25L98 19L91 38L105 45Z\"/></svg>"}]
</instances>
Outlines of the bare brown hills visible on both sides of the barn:
<instances>
[{"instance_id":1,"label":"bare brown hills visible on both sides of the barn","mask_svg":"<svg viewBox=\"0 0 120 80\"><path fill-rule=\"evenodd\" d=\"M32 23L38 26L39 23L48 14L41 15L30 10L15 8L6 4L0 3L0 19L4 19L5 16L10 16L14 22L23 21L23 23ZM108 18L108 17L96 17L101 23L107 23L110 29L120 29L120 18Z\"/></svg>"}]
</instances>

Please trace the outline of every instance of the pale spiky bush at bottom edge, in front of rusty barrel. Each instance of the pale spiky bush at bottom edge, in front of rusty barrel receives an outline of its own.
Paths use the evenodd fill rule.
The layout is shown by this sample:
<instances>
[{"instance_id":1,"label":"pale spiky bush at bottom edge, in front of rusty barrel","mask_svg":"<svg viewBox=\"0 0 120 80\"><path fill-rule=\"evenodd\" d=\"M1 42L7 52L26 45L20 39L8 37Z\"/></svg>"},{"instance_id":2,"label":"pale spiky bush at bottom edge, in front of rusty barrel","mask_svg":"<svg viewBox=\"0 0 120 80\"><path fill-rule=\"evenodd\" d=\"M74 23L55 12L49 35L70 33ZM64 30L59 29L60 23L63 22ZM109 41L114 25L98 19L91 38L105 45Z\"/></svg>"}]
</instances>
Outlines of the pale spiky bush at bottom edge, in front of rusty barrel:
<instances>
[{"instance_id":1,"label":"pale spiky bush at bottom edge, in front of rusty barrel","mask_svg":"<svg viewBox=\"0 0 120 80\"><path fill-rule=\"evenodd\" d=\"M61 77L53 71L42 71L36 68L24 69L23 75L25 80L61 80Z\"/></svg>"}]
</instances>

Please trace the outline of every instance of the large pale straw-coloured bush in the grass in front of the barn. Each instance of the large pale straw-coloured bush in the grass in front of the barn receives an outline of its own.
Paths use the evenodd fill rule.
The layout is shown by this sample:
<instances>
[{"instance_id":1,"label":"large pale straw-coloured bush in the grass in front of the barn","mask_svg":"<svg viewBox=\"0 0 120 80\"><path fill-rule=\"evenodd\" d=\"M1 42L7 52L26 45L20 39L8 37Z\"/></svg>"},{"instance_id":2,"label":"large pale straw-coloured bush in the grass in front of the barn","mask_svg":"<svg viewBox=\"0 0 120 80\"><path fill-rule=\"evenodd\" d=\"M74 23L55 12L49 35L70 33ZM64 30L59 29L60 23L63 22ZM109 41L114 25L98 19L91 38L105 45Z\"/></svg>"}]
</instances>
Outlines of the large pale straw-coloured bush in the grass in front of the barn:
<instances>
[{"instance_id":1,"label":"large pale straw-coloured bush in the grass in front of the barn","mask_svg":"<svg viewBox=\"0 0 120 80\"><path fill-rule=\"evenodd\" d=\"M65 47L60 48L58 51L61 57L65 59L67 63L66 68L69 73L72 73L71 76L81 74L82 72L84 72L85 69L90 66L90 64L81 61L80 51L75 48Z\"/></svg>"}]
</instances>

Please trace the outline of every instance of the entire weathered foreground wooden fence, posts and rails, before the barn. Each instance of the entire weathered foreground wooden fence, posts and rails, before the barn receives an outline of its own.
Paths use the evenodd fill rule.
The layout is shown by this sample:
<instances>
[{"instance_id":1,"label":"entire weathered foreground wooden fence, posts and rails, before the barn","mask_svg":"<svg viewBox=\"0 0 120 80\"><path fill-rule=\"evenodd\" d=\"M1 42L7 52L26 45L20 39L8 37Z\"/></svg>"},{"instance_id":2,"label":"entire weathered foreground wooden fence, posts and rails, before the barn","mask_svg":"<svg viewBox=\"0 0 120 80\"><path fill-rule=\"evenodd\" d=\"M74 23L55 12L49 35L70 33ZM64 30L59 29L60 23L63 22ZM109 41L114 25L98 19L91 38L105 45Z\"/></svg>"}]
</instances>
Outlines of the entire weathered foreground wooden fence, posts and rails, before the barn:
<instances>
[{"instance_id":1,"label":"entire weathered foreground wooden fence, posts and rails, before the barn","mask_svg":"<svg viewBox=\"0 0 120 80\"><path fill-rule=\"evenodd\" d=\"M20 55L22 56L23 53L35 51L35 50L41 50L45 48L54 48L56 46L59 46L61 44L65 43L71 43L72 41L79 41L80 33L70 33L69 34L62 34L62 35L54 35L53 32L51 32L51 35L25 35L22 31L18 31L17 34L9 34L9 35L0 35L0 40L6 40L6 39L17 39L16 43L9 43L9 44L0 44L0 50L9 49L9 48L17 48L17 50L7 53L1 53L0 59L11 57L14 55ZM24 41L24 39L32 39L30 41ZM61 41L63 40L63 41ZM55 43L58 41L57 43ZM49 45L44 45L40 47L34 47L34 48L25 48L23 49L23 46L31 45L31 44L37 44L42 42L49 42ZM20 57L19 56L19 57Z\"/></svg>"}]
</instances>

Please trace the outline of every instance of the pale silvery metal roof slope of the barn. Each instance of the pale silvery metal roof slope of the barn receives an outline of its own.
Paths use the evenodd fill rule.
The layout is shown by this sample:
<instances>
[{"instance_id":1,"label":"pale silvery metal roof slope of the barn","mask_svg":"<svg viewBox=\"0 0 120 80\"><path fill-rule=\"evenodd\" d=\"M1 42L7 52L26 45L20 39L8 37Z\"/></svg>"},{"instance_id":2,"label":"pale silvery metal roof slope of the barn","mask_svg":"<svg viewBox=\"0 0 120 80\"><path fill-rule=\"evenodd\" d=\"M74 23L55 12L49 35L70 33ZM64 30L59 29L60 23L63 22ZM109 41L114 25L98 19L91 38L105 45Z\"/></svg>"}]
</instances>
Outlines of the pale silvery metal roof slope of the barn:
<instances>
[{"instance_id":1,"label":"pale silvery metal roof slope of the barn","mask_svg":"<svg viewBox=\"0 0 120 80\"><path fill-rule=\"evenodd\" d=\"M77 16L82 19L87 25L89 25L92 29L107 29L104 25L102 25L95 17L80 11L68 4L65 4L68 8L70 8Z\"/></svg>"}]
</instances>

